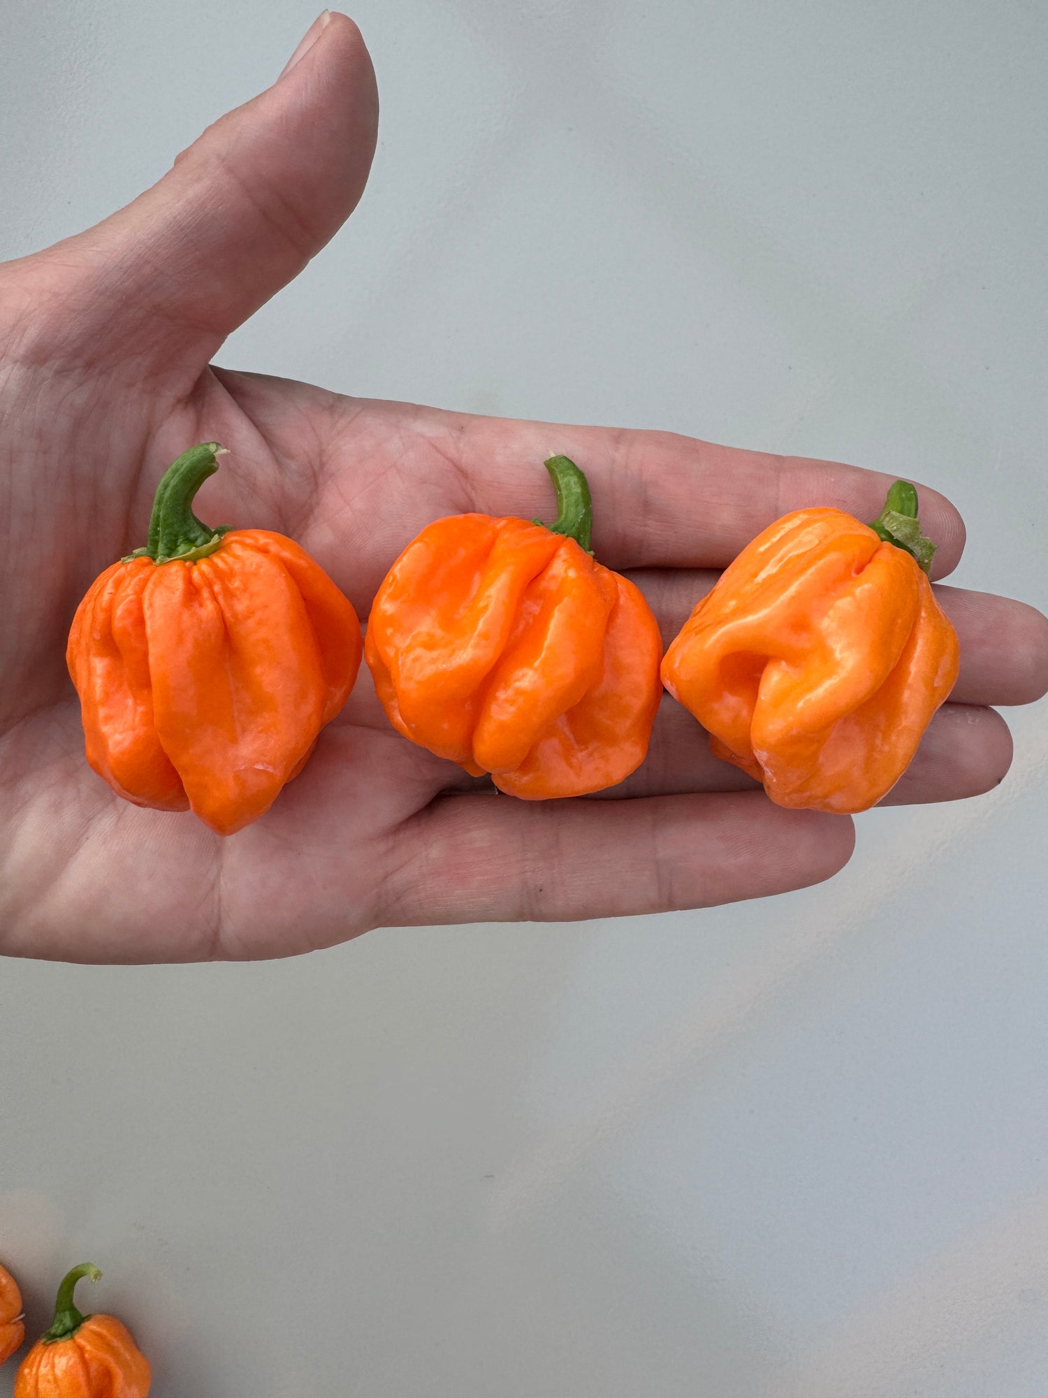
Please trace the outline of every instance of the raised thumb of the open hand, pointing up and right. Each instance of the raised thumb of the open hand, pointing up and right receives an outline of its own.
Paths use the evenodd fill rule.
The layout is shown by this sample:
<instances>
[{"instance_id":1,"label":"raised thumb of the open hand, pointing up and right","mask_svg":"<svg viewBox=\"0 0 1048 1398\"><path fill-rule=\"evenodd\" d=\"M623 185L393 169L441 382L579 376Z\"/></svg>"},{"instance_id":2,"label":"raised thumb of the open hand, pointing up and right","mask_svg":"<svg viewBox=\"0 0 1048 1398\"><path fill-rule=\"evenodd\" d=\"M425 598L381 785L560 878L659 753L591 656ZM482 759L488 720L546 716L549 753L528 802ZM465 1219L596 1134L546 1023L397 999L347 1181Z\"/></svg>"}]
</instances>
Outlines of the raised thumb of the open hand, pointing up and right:
<instances>
[{"instance_id":1,"label":"raised thumb of the open hand, pointing up and right","mask_svg":"<svg viewBox=\"0 0 1048 1398\"><path fill-rule=\"evenodd\" d=\"M356 207L377 120L361 32L324 11L278 81L210 126L159 183L27 259L61 322L50 361L133 362L189 387Z\"/></svg>"}]
</instances>

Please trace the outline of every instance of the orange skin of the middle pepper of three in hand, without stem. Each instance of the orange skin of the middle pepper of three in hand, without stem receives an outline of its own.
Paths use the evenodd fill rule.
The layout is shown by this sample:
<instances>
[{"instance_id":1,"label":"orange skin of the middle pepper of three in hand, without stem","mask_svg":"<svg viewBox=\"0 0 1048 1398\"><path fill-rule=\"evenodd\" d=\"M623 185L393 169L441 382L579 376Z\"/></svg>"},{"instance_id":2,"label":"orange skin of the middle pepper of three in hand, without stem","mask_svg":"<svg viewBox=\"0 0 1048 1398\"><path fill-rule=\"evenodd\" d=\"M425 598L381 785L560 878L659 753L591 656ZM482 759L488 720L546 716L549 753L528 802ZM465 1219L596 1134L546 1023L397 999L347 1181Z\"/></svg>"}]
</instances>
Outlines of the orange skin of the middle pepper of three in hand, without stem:
<instances>
[{"instance_id":1,"label":"orange skin of the middle pepper of three in hand, without stem","mask_svg":"<svg viewBox=\"0 0 1048 1398\"><path fill-rule=\"evenodd\" d=\"M601 791L647 754L655 618L542 524L454 514L422 530L379 589L365 654L394 728L510 795Z\"/></svg>"}]
</instances>

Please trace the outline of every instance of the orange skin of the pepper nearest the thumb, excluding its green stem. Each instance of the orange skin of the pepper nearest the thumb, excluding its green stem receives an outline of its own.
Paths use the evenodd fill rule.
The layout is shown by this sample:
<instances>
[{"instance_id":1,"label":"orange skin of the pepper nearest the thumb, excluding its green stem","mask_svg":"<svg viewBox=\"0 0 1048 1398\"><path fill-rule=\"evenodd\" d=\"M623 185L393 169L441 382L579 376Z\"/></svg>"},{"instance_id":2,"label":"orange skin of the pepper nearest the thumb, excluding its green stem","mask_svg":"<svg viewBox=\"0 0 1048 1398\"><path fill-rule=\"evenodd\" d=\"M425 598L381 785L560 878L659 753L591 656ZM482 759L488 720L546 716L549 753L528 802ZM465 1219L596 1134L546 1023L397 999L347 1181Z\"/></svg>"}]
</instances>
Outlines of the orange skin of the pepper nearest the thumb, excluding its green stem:
<instances>
[{"instance_id":1,"label":"orange skin of the pepper nearest the thumb, excluding its green stem","mask_svg":"<svg viewBox=\"0 0 1048 1398\"><path fill-rule=\"evenodd\" d=\"M194 562L113 563L66 653L88 762L136 805L232 835L305 766L362 644L348 598L282 534L233 530Z\"/></svg>"}]
</instances>

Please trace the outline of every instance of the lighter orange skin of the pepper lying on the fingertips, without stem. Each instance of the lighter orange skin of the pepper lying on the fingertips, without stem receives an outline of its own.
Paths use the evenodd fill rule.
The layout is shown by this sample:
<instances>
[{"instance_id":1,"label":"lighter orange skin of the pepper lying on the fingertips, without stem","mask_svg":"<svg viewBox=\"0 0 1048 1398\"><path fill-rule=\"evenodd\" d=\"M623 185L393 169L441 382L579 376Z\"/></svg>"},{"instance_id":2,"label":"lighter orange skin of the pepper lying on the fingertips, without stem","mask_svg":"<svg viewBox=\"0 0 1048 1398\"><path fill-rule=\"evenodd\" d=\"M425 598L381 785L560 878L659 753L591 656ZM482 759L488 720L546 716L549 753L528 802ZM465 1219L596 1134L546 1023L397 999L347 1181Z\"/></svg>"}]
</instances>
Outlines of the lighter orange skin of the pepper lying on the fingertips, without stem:
<instances>
[{"instance_id":1,"label":"lighter orange skin of the pepper lying on the fingertips, without stem","mask_svg":"<svg viewBox=\"0 0 1048 1398\"><path fill-rule=\"evenodd\" d=\"M957 636L910 554L834 509L759 534L662 661L710 749L778 805L875 805L957 678Z\"/></svg>"}]
</instances>

